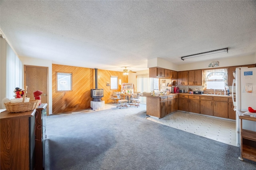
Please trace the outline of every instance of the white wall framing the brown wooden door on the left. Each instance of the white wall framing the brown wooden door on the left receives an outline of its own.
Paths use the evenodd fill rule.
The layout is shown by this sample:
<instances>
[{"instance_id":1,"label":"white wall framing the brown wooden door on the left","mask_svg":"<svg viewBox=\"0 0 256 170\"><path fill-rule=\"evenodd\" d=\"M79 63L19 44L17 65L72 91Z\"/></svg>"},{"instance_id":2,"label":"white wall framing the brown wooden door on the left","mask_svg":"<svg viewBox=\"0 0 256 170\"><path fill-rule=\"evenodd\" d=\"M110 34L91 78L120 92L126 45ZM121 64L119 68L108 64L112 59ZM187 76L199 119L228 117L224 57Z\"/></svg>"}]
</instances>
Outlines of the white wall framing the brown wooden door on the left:
<instances>
[{"instance_id":1,"label":"white wall framing the brown wooden door on the left","mask_svg":"<svg viewBox=\"0 0 256 170\"><path fill-rule=\"evenodd\" d=\"M22 62L22 84L24 84L24 65L48 67L48 108L52 114L52 61L30 57L19 57Z\"/></svg>"}]
</instances>

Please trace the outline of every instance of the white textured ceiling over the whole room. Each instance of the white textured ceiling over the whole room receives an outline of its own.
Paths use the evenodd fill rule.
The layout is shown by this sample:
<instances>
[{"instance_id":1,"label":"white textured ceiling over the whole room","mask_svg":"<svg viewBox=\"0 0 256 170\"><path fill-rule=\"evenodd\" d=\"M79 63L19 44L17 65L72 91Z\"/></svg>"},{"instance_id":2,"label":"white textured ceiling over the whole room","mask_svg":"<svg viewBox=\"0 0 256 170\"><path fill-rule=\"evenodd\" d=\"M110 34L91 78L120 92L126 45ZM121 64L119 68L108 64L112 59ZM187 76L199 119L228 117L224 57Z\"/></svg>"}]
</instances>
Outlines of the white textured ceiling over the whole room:
<instances>
[{"instance_id":1,"label":"white textured ceiling over the whole room","mask_svg":"<svg viewBox=\"0 0 256 170\"><path fill-rule=\"evenodd\" d=\"M138 71L147 60L185 64L180 57L228 47L256 52L256 1L1 0L0 29L23 57L55 64Z\"/></svg>"}]
</instances>

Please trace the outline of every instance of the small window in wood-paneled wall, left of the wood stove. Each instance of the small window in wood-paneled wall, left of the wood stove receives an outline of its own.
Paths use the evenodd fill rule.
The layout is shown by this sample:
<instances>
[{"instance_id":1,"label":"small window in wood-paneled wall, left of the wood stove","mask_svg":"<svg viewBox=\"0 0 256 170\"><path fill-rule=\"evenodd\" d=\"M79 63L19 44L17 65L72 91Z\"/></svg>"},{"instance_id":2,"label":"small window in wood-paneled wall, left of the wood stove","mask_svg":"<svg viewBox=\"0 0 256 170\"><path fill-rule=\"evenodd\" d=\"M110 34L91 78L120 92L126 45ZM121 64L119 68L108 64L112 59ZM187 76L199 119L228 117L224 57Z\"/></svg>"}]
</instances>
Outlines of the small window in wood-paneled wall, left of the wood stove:
<instances>
[{"instance_id":1,"label":"small window in wood-paneled wall, left of the wood stove","mask_svg":"<svg viewBox=\"0 0 256 170\"><path fill-rule=\"evenodd\" d=\"M72 90L72 73L57 72L57 92Z\"/></svg>"}]
</instances>

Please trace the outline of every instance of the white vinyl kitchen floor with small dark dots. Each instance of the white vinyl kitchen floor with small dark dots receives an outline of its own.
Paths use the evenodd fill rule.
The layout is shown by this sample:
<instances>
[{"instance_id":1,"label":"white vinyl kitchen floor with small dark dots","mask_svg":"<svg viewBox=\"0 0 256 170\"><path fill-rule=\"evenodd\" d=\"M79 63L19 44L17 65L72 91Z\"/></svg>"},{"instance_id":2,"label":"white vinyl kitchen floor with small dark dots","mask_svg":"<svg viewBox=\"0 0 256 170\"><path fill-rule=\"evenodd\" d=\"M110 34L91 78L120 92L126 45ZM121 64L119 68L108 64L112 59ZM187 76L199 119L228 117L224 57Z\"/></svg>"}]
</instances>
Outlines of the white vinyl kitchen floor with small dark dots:
<instances>
[{"instance_id":1,"label":"white vinyl kitchen floor with small dark dots","mask_svg":"<svg viewBox=\"0 0 256 170\"><path fill-rule=\"evenodd\" d=\"M176 111L161 119L157 117L147 117L147 119L228 145L237 146L235 120L181 111Z\"/></svg>"}]
</instances>

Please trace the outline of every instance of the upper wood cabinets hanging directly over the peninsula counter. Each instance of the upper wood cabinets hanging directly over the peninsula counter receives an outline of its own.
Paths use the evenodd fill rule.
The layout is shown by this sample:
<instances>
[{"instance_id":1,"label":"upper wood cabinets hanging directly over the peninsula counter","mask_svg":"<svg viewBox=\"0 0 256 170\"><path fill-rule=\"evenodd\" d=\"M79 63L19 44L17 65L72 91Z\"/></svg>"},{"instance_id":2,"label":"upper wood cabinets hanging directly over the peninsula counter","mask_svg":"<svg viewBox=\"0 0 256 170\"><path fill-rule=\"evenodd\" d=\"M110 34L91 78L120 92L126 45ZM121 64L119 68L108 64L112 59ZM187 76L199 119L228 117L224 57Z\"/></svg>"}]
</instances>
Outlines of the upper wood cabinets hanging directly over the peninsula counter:
<instances>
[{"instance_id":1,"label":"upper wood cabinets hanging directly over the peninsula counter","mask_svg":"<svg viewBox=\"0 0 256 170\"><path fill-rule=\"evenodd\" d=\"M177 78L177 72L168 70L166 68L160 68L160 67L151 67L149 68L149 77L150 78ZM176 77L176 78L175 78Z\"/></svg>"}]
</instances>

